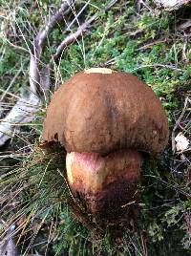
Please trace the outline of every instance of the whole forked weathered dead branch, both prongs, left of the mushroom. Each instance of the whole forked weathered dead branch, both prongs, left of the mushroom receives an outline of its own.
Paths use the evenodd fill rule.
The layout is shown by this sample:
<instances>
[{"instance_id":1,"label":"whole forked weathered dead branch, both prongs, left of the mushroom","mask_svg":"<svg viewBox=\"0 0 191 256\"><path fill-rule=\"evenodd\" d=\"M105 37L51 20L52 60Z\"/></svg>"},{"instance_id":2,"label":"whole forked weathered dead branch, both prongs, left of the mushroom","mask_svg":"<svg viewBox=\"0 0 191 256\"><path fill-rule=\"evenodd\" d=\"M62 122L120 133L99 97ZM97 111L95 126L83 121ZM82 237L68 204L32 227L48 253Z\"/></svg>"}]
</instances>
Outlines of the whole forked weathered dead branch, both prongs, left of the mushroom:
<instances>
[{"instance_id":1,"label":"whole forked weathered dead branch, both prongs, left of the mushroom","mask_svg":"<svg viewBox=\"0 0 191 256\"><path fill-rule=\"evenodd\" d=\"M106 8L102 11L107 11L110 9L117 0L110 1ZM46 93L49 90L50 86L50 65L59 58L60 54L64 50L66 46L73 43L78 36L85 31L90 24L96 20L99 16L99 13L93 15L89 20L79 26L76 32L70 34L65 38L65 40L57 47L56 53L54 53L53 58L51 59L49 65L47 65L43 70L39 69L39 60L41 57L41 53L43 51L43 47L45 44L45 40L53 31L53 27L56 23L59 23L64 19L63 13L68 9L73 11L74 1L65 1L59 11L56 11L53 17L50 19L44 31L38 32L36 37L33 40L33 50L31 54L30 60L30 90L28 96L22 96L14 107L11 109L11 112L7 117L1 120L0 123L0 146L4 145L4 143L12 137L13 132L15 131L15 125L22 125L32 121L35 118L35 114L38 112L42 100L39 96L39 93L43 92L43 95L46 96ZM81 13L82 11L79 11ZM76 17L75 17L76 19Z\"/></svg>"}]
</instances>

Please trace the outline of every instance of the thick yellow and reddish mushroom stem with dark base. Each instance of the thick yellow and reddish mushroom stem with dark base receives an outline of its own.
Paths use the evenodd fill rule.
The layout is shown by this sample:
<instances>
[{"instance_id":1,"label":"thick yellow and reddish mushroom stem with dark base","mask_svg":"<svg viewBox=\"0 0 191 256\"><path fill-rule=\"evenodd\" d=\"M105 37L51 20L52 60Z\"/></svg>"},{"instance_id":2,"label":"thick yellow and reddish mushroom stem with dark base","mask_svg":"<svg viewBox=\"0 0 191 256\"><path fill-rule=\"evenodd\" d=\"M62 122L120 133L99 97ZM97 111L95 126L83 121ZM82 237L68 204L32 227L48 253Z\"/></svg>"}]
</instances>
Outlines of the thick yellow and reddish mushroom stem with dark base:
<instances>
[{"instance_id":1,"label":"thick yellow and reddish mushroom stem with dark base","mask_svg":"<svg viewBox=\"0 0 191 256\"><path fill-rule=\"evenodd\" d=\"M106 214L136 200L142 158L135 150L67 154L67 177L74 193L93 214Z\"/></svg>"}]
</instances>

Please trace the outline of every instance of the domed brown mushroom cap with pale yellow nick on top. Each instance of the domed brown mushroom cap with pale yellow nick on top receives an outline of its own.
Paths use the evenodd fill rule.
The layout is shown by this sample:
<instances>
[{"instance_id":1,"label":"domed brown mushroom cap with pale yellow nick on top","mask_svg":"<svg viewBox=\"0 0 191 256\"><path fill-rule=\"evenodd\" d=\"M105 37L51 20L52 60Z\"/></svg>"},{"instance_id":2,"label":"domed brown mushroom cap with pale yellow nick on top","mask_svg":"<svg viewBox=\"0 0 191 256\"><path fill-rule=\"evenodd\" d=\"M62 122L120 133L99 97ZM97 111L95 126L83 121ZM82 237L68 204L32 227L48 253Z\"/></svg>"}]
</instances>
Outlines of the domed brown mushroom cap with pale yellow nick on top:
<instances>
[{"instance_id":1,"label":"domed brown mushroom cap with pale yellow nick on top","mask_svg":"<svg viewBox=\"0 0 191 256\"><path fill-rule=\"evenodd\" d=\"M67 152L110 152L132 148L159 153L168 123L158 96L135 75L91 69L71 77L55 92L42 139Z\"/></svg>"}]
</instances>

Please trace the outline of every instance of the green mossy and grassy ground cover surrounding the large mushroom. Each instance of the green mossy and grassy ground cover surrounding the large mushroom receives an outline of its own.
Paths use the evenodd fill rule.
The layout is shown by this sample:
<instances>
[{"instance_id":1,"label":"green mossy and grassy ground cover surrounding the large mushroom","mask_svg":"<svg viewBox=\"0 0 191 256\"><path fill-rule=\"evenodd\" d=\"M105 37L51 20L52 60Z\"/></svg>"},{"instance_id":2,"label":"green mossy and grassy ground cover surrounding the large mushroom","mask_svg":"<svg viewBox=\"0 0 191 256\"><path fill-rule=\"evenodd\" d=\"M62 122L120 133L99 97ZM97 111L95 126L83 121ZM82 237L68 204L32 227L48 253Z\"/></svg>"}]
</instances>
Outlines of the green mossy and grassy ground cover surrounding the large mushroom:
<instances>
[{"instance_id":1,"label":"green mossy and grassy ground cover surrounding the large mushroom","mask_svg":"<svg viewBox=\"0 0 191 256\"><path fill-rule=\"evenodd\" d=\"M13 4L14 2L14 4ZM1 108L7 113L15 96L29 86L32 38L45 27L50 6L57 9L61 1L4 1L0 12L0 90ZM51 74L54 89L75 72L89 67L109 67L138 75L159 96L169 118L170 135L182 132L190 139L190 107L183 109L190 96L191 44L189 30L179 29L190 19L191 8L166 12L156 9L153 1L117 1L102 11L102 1L90 1L79 22L98 12L85 32L66 47ZM80 11L85 1L77 1ZM66 13L69 23L74 18ZM71 27L78 28L78 22ZM56 47L70 33L66 25L56 25L47 40L41 65L47 64ZM10 86L11 85L11 86ZM5 90L10 86L9 91ZM0 97L1 97L0 96ZM38 138L49 100L36 118L21 129L3 149L0 169L0 238L8 226L15 224L15 240L21 254L42 255L190 255L191 186L189 151L173 154L171 136L161 156L146 157L142 171L138 230L127 232L117 241L110 234L97 236L80 224L64 177L64 154L39 149ZM1 111L0 111L1 114ZM176 120L180 117L180 126ZM2 114L4 117L5 113ZM53 153L53 154L51 154Z\"/></svg>"}]
</instances>

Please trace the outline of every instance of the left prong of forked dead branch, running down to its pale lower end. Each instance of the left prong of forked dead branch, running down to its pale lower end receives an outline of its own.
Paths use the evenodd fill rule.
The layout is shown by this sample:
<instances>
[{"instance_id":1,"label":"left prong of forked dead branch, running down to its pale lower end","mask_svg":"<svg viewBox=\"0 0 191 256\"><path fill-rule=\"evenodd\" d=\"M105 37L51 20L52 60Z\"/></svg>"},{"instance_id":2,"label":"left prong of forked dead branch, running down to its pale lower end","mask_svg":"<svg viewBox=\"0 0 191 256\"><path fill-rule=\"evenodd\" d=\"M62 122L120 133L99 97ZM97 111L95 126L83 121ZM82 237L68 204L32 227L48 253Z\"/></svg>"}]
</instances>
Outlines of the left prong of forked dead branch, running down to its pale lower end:
<instances>
[{"instance_id":1,"label":"left prong of forked dead branch, running down to its pale lower end","mask_svg":"<svg viewBox=\"0 0 191 256\"><path fill-rule=\"evenodd\" d=\"M11 139L15 132L15 125L22 125L31 122L35 114L39 111L42 104L39 92L44 95L49 90L49 67L39 71L39 59L43 51L45 40L56 23L64 17L63 14L71 7L72 1L65 1L60 9L55 12L47 24L45 30L38 32L33 40L33 50L30 52L30 90L28 96L21 96L11 109L7 117L3 118L0 123L0 146L4 145L8 139ZM18 129L17 129L18 130Z\"/></svg>"}]
</instances>

